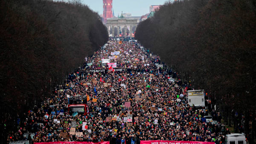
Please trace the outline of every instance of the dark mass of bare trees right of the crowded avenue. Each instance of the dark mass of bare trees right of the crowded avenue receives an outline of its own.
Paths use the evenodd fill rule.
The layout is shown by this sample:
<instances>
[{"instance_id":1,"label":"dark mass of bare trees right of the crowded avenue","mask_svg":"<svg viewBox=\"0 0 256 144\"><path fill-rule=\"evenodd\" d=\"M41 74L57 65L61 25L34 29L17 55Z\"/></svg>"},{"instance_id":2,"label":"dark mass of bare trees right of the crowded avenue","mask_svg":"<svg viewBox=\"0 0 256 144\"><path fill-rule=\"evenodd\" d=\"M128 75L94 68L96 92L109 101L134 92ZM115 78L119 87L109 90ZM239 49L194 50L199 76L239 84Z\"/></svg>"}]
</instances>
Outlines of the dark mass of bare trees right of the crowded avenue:
<instances>
[{"instance_id":1,"label":"dark mass of bare trees right of the crowded avenue","mask_svg":"<svg viewBox=\"0 0 256 144\"><path fill-rule=\"evenodd\" d=\"M242 115L244 132L256 129L256 0L168 2L135 37L192 88L205 89L236 132Z\"/></svg>"}]
</instances>

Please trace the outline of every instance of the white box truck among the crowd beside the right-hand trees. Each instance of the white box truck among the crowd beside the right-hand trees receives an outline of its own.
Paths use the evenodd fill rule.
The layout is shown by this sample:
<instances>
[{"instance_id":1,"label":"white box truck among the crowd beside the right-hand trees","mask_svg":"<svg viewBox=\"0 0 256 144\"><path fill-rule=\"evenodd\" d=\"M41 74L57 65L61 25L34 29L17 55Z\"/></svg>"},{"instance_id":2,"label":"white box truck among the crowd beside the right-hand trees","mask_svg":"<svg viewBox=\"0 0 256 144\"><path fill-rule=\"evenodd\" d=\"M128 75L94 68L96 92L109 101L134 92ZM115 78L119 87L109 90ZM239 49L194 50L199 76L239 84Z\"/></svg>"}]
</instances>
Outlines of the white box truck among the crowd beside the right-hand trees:
<instances>
[{"instance_id":1,"label":"white box truck among the crowd beside the right-hand trees","mask_svg":"<svg viewBox=\"0 0 256 144\"><path fill-rule=\"evenodd\" d=\"M195 107L204 109L204 89L188 90L188 101L190 106L194 105Z\"/></svg>"}]
</instances>

